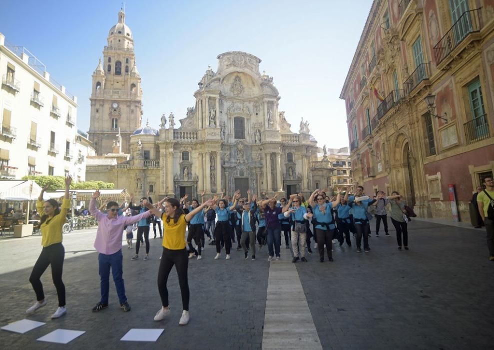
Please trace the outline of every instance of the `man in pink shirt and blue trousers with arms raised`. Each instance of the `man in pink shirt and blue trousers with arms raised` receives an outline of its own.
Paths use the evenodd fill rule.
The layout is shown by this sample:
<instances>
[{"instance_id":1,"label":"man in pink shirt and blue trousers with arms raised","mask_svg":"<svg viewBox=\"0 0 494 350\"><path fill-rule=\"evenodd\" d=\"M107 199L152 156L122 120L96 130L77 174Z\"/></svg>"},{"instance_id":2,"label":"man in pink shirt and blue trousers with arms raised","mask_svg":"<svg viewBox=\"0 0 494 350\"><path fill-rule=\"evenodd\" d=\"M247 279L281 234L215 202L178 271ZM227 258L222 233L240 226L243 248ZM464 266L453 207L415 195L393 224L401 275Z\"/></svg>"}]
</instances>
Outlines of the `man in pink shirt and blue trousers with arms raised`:
<instances>
[{"instance_id":1,"label":"man in pink shirt and blue trousers with arms raised","mask_svg":"<svg viewBox=\"0 0 494 350\"><path fill-rule=\"evenodd\" d=\"M113 274L113 281L117 290L120 307L124 311L130 311L130 305L125 296L125 286L123 284L122 267L122 232L125 225L131 225L142 218L151 215L151 211L145 211L135 216L118 216L119 205L115 201L110 201L106 205L107 213L103 214L96 208L96 198L99 197L99 190L96 190L89 202L89 212L98 221L98 231L94 247L99 252L99 276L101 288L101 300L92 308L93 311L101 311L108 307L108 291L110 288L109 277L110 268ZM148 203L148 208L152 209L152 204Z\"/></svg>"}]
</instances>

